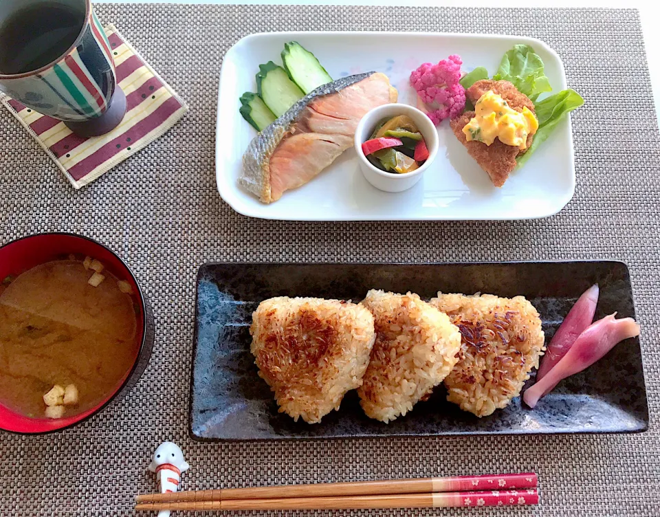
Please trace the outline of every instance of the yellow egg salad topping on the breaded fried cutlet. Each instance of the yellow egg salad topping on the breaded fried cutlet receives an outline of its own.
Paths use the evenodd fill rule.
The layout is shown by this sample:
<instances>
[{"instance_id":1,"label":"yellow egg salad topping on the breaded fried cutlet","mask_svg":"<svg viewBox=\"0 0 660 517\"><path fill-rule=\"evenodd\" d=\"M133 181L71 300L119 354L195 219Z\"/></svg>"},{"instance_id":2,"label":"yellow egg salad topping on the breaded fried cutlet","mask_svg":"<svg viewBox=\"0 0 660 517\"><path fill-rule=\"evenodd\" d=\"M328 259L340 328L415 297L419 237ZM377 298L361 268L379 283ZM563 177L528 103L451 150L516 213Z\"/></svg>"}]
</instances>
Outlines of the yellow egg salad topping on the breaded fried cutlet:
<instances>
[{"instance_id":1,"label":"yellow egg salad topping on the breaded fried cutlet","mask_svg":"<svg viewBox=\"0 0 660 517\"><path fill-rule=\"evenodd\" d=\"M499 138L503 144L525 149L527 135L537 129L538 120L529 109L523 107L522 113L511 109L506 100L490 90L474 104L474 117L465 124L463 133L468 142L490 145Z\"/></svg>"}]
</instances>

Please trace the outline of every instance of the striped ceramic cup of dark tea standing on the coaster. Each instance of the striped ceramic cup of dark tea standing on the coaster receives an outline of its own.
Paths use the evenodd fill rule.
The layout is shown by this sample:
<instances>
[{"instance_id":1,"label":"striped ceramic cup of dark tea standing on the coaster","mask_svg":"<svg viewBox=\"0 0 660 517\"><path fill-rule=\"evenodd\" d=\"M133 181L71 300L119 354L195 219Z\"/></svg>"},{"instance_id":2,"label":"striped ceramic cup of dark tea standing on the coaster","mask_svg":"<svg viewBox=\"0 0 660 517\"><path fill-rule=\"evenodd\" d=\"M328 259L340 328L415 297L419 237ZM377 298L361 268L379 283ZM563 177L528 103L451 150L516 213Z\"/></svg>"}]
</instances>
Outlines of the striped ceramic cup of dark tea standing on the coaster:
<instances>
[{"instance_id":1,"label":"striped ceramic cup of dark tea standing on the coaster","mask_svg":"<svg viewBox=\"0 0 660 517\"><path fill-rule=\"evenodd\" d=\"M117 126L126 97L91 0L0 1L0 91L81 136Z\"/></svg>"}]
</instances>

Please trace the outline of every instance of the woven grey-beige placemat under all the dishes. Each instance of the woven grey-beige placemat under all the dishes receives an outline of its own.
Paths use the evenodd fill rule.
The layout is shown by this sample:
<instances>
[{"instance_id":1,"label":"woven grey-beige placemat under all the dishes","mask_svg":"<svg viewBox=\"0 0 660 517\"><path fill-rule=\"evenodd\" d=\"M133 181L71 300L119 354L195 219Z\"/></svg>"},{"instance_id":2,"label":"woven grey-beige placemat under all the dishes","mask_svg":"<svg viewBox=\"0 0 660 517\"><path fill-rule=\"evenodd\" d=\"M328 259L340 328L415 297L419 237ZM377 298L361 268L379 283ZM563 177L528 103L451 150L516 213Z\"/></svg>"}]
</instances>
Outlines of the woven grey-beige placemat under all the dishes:
<instances>
[{"instance_id":1,"label":"woven grey-beige placemat under all the dishes","mask_svg":"<svg viewBox=\"0 0 660 517\"><path fill-rule=\"evenodd\" d=\"M132 515L135 493L155 487L146 466L164 439L177 441L192 465L183 474L184 489L536 470L539 507L355 514L659 515L660 142L637 12L109 4L97 9L104 23L115 23L168 78L191 111L157 142L80 192L0 112L1 239L69 230L111 245L146 286L157 325L155 349L141 382L104 415L48 437L0 436L1 516ZM235 214L221 201L214 177L219 69L230 45L271 30L495 32L543 39L562 56L569 85L587 100L573 115L573 201L556 217L528 222L281 223ZM622 259L632 273L651 412L644 434L223 445L188 439L195 274L204 261L601 258Z\"/></svg>"}]
</instances>

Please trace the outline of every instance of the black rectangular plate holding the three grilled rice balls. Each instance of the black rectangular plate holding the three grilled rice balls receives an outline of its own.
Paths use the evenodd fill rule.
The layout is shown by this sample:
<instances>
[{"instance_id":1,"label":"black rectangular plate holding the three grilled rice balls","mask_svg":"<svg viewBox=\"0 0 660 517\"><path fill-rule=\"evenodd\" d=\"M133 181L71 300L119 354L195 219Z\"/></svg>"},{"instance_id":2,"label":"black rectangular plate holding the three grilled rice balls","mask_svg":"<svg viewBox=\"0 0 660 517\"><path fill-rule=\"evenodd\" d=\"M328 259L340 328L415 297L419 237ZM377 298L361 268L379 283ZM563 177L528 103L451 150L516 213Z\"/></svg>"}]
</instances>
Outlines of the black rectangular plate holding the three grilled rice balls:
<instances>
[{"instance_id":1,"label":"black rectangular plate holding the three grilled rice balls","mask_svg":"<svg viewBox=\"0 0 660 517\"><path fill-rule=\"evenodd\" d=\"M438 386L428 401L389 424L366 417L355 391L321 423L294 422L278 412L250 353L252 312L273 296L359 301L369 289L416 292L425 299L438 291L522 295L539 311L549 342L577 297L594 283L600 285L596 318L615 311L619 318L635 317L628 267L614 261L203 265L197 278L190 436L263 440L646 430L639 338L618 344L586 371L561 382L534 410L521 407L516 398L480 419L447 402Z\"/></svg>"}]
</instances>

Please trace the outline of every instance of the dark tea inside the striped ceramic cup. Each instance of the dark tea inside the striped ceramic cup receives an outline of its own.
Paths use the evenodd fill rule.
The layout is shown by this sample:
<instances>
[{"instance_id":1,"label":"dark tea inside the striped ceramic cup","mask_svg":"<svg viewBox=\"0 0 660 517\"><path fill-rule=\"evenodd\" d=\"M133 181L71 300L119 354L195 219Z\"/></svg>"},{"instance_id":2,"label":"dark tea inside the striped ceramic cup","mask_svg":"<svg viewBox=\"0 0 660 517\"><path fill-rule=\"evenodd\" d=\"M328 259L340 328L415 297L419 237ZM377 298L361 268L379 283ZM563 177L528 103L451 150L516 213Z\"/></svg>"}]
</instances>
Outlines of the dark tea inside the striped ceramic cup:
<instances>
[{"instance_id":1,"label":"dark tea inside the striped ceramic cup","mask_svg":"<svg viewBox=\"0 0 660 517\"><path fill-rule=\"evenodd\" d=\"M84 3L25 3L0 26L0 74L25 74L49 65L67 53L83 30Z\"/></svg>"}]
</instances>

